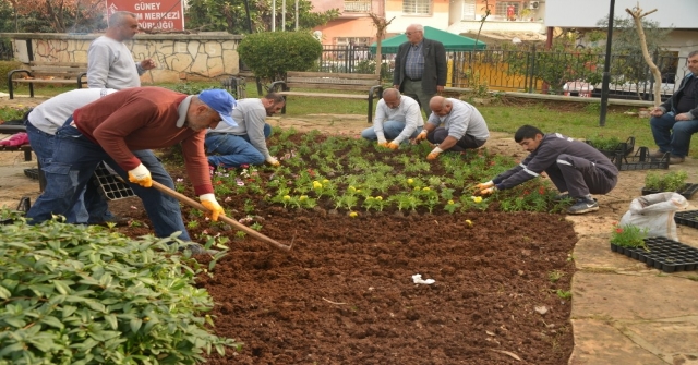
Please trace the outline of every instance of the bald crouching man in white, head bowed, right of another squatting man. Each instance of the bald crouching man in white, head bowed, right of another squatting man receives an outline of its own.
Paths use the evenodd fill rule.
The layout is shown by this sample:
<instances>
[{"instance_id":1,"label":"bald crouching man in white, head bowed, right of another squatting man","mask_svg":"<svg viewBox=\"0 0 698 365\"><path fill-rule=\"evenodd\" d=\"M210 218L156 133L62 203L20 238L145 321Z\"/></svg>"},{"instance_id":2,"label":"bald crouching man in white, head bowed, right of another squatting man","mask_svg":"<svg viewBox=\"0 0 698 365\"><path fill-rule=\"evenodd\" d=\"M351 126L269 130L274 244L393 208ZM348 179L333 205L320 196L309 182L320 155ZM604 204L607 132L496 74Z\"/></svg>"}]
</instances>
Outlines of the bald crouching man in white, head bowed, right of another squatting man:
<instances>
[{"instance_id":1,"label":"bald crouching man in white, head bowed, right of another squatting man","mask_svg":"<svg viewBox=\"0 0 698 365\"><path fill-rule=\"evenodd\" d=\"M435 96L430 107L432 114L422 133L414 138L416 142L428 139L438 145L426 156L428 160L436 159L445 150L480 148L490 138L484 118L468 102Z\"/></svg>"}]
</instances>

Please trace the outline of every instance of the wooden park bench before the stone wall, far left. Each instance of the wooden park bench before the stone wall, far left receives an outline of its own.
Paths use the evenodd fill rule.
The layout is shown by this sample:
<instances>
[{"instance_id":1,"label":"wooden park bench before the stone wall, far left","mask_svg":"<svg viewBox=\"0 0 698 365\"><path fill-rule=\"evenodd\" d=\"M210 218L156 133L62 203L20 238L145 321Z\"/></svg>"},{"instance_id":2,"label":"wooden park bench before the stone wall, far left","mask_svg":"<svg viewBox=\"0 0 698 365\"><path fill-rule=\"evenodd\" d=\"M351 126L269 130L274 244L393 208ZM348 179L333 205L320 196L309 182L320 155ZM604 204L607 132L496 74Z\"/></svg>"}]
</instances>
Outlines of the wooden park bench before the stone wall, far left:
<instances>
[{"instance_id":1,"label":"wooden park bench before the stone wall, far left","mask_svg":"<svg viewBox=\"0 0 698 365\"><path fill-rule=\"evenodd\" d=\"M16 75L24 75L16 77ZM35 62L25 69L12 70L8 73L10 99L14 98L14 84L29 84L29 96L34 97L34 84L73 84L82 88L87 84L87 63L77 62Z\"/></svg>"}]
</instances>

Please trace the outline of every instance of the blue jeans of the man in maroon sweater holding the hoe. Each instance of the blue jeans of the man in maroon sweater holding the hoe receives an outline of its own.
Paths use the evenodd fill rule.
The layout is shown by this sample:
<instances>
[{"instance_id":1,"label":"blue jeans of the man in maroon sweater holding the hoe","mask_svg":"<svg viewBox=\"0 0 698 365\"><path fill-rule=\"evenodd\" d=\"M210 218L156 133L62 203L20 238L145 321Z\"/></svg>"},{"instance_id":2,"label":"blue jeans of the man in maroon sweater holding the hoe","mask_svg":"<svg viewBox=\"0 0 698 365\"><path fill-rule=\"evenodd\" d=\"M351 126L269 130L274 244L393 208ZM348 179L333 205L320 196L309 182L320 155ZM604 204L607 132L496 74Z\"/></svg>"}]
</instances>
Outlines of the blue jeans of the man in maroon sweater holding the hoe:
<instances>
[{"instance_id":1,"label":"blue jeans of the man in maroon sweater holding the hoe","mask_svg":"<svg viewBox=\"0 0 698 365\"><path fill-rule=\"evenodd\" d=\"M149 150L134 151L141 162L151 171L154 181L169 188L174 188L172 178L165 171L160 161ZM51 219L52 215L63 215L71 209L80 196L80 192L95 172L100 161L107 162L125 181L128 173L121 169L101 147L82 135L77 129L61 126L53 139L51 163L44 168L46 191L34 203L26 214L32 224ZM154 187L129 184L143 200L143 206L153 222L155 234L166 238L180 231L179 238L191 241L177 199L160 193ZM95 190L96 191L96 190ZM97 193L98 194L98 193ZM85 207L89 210L94 196L85 194Z\"/></svg>"}]
</instances>

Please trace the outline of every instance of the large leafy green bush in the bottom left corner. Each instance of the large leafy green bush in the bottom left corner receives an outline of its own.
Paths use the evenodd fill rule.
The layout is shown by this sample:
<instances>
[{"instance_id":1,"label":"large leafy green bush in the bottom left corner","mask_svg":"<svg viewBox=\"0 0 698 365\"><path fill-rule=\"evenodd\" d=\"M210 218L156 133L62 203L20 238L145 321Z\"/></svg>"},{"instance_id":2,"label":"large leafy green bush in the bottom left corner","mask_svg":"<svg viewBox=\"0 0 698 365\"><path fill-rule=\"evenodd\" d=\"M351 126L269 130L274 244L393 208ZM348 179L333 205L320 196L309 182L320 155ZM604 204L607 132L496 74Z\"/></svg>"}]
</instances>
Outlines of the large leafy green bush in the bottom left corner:
<instances>
[{"instance_id":1,"label":"large leafy green bush in the bottom left corner","mask_svg":"<svg viewBox=\"0 0 698 365\"><path fill-rule=\"evenodd\" d=\"M213 301L194 285L203 269L170 240L0 226L0 364L195 364L239 346L207 331Z\"/></svg>"}]
</instances>

